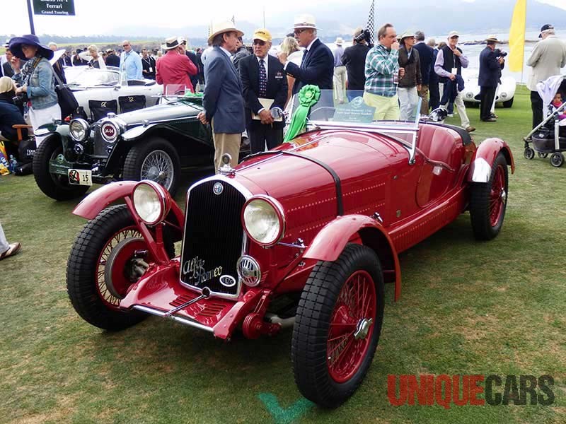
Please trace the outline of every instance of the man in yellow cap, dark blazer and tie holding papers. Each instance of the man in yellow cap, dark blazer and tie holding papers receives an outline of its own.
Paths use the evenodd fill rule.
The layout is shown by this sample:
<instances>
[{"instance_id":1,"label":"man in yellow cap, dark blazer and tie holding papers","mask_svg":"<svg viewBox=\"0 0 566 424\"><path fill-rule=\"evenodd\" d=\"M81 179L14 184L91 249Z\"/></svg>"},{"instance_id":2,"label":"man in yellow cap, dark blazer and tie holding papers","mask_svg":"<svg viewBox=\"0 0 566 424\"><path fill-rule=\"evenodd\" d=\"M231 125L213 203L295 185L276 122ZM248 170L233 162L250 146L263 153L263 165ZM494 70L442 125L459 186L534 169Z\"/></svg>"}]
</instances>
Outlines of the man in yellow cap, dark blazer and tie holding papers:
<instances>
[{"instance_id":1,"label":"man in yellow cap, dark blazer and tie holding papers","mask_svg":"<svg viewBox=\"0 0 566 424\"><path fill-rule=\"evenodd\" d=\"M287 101L287 76L281 62L267 54L271 33L265 28L253 34L253 54L240 60L246 128L252 153L275 148L283 141L282 114Z\"/></svg>"}]
</instances>

